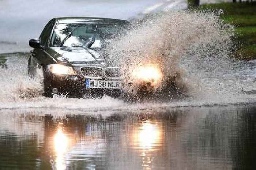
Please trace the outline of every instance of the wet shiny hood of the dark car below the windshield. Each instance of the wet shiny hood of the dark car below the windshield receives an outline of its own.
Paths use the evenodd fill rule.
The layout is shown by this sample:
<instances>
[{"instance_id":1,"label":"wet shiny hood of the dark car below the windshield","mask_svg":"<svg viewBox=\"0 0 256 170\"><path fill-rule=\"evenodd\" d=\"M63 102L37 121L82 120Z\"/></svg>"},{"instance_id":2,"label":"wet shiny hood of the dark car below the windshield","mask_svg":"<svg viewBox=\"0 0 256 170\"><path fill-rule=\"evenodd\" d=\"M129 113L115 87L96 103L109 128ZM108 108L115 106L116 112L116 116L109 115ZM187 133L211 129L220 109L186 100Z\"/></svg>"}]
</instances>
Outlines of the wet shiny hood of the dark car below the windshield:
<instances>
[{"instance_id":1,"label":"wet shiny hood of the dark car below the windshield","mask_svg":"<svg viewBox=\"0 0 256 170\"><path fill-rule=\"evenodd\" d=\"M72 65L76 64L98 64L104 61L102 50L88 49L81 47L51 47L59 54L58 61L68 61ZM56 55L55 54L55 55Z\"/></svg>"}]
</instances>

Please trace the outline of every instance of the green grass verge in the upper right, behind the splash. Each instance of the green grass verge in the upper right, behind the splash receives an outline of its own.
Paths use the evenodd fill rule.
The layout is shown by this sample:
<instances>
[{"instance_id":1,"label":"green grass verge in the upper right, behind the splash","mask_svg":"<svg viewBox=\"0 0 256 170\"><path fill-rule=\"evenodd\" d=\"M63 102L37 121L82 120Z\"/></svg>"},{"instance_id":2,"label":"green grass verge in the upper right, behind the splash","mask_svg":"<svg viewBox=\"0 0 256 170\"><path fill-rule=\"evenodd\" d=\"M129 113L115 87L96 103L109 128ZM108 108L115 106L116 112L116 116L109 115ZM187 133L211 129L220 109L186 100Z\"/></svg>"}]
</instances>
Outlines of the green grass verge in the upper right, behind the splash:
<instances>
[{"instance_id":1,"label":"green grass verge in the upper right, behind the splash","mask_svg":"<svg viewBox=\"0 0 256 170\"><path fill-rule=\"evenodd\" d=\"M256 2L203 4L199 9L222 9L221 19L236 26L236 41L239 42L236 58L256 59Z\"/></svg>"}]
</instances>

